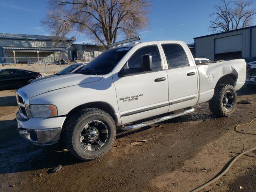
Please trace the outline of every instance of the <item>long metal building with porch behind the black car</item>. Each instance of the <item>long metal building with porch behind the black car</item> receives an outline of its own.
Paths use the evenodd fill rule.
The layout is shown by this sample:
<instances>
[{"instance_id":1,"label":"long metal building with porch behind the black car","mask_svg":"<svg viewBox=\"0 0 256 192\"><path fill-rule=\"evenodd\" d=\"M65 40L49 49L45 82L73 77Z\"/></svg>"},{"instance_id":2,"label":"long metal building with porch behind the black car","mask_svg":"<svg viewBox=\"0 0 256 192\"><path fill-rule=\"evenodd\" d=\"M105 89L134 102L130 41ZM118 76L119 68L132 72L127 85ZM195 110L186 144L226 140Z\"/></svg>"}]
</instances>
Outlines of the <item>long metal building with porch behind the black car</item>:
<instances>
[{"instance_id":1,"label":"long metal building with porch behind the black car","mask_svg":"<svg viewBox=\"0 0 256 192\"><path fill-rule=\"evenodd\" d=\"M71 57L74 40L75 37L56 40L54 36L0 33L0 63L54 62Z\"/></svg>"}]
</instances>

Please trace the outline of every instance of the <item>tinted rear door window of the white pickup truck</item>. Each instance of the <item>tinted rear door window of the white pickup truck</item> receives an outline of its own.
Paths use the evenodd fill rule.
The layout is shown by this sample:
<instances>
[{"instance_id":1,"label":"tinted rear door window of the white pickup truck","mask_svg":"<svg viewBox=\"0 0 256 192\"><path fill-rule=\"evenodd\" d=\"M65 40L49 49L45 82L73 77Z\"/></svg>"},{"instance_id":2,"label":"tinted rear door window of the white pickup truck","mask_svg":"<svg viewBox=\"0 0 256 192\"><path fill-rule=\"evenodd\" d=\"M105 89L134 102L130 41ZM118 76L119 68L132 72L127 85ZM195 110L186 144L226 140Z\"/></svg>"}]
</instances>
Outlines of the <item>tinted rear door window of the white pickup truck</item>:
<instances>
[{"instance_id":1,"label":"tinted rear door window of the white pickup truck","mask_svg":"<svg viewBox=\"0 0 256 192\"><path fill-rule=\"evenodd\" d=\"M169 68L189 66L188 59L179 44L162 44Z\"/></svg>"}]
</instances>

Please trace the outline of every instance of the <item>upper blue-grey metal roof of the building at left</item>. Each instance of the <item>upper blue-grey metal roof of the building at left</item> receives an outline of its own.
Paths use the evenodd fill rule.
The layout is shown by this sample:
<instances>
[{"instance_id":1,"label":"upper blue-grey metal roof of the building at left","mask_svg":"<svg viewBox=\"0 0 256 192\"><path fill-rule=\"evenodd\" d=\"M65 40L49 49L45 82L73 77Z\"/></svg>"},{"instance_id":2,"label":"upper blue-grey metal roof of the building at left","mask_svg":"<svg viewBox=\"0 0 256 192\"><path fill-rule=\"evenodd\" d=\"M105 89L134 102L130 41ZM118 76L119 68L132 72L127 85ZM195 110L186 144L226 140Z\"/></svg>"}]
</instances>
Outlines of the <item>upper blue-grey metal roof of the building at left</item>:
<instances>
[{"instance_id":1,"label":"upper blue-grey metal roof of the building at left","mask_svg":"<svg viewBox=\"0 0 256 192\"><path fill-rule=\"evenodd\" d=\"M54 36L46 35L25 35L25 34L10 34L0 33L0 39L19 39L19 40L56 40ZM59 38L59 40L73 41L69 38Z\"/></svg>"}]
</instances>

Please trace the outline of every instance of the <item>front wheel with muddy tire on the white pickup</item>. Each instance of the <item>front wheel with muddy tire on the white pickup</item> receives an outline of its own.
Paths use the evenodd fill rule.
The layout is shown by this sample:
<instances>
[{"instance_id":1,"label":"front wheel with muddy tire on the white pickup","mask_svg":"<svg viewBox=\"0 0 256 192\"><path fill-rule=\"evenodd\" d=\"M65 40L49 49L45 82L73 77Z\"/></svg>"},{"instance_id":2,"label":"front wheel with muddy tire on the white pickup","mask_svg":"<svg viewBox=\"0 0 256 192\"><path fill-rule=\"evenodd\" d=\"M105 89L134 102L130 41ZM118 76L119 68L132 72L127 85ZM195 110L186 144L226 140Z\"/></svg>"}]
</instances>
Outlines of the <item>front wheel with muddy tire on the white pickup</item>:
<instances>
[{"instance_id":1,"label":"front wheel with muddy tire on the white pickup","mask_svg":"<svg viewBox=\"0 0 256 192\"><path fill-rule=\"evenodd\" d=\"M104 155L115 139L116 125L113 118L97 108L80 110L66 124L66 148L84 161Z\"/></svg>"}]
</instances>

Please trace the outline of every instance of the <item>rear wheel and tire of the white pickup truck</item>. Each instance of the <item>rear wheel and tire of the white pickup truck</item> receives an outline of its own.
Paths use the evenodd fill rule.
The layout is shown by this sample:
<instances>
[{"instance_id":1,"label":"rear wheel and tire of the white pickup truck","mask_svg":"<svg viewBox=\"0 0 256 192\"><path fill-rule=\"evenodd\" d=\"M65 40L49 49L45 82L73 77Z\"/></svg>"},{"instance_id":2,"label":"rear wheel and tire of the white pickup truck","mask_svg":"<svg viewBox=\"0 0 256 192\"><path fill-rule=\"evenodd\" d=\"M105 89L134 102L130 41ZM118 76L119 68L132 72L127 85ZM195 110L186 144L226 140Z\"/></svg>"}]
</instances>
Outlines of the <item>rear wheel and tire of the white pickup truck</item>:
<instances>
[{"instance_id":1,"label":"rear wheel and tire of the white pickup truck","mask_svg":"<svg viewBox=\"0 0 256 192\"><path fill-rule=\"evenodd\" d=\"M218 85L214 90L212 100L209 102L210 110L220 117L228 117L236 108L236 90L229 84Z\"/></svg>"}]
</instances>

